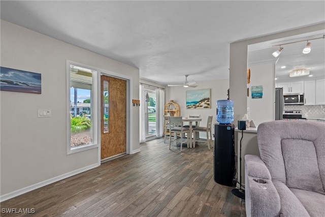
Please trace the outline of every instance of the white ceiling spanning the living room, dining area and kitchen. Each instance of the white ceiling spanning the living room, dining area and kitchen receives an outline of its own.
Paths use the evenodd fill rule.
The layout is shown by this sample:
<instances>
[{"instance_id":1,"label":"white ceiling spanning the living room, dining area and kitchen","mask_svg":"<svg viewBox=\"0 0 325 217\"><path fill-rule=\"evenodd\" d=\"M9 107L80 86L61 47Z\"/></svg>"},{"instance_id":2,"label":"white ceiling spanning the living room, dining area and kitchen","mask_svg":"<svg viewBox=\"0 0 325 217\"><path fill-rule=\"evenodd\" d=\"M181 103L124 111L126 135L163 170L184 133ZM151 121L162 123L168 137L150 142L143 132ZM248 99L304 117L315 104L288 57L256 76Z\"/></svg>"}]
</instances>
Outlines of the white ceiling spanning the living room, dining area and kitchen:
<instances>
[{"instance_id":1,"label":"white ceiling spanning the living room, dining area and kitchen","mask_svg":"<svg viewBox=\"0 0 325 217\"><path fill-rule=\"evenodd\" d=\"M325 1L1 1L1 19L137 67L141 78L179 84L184 75L229 78L230 43L324 22ZM308 55L318 41L324 73L324 40L311 41ZM293 53L293 63L284 61L298 44L284 47L277 66L306 61ZM271 61L261 57L276 48L258 46L250 49L264 53L249 61Z\"/></svg>"}]
</instances>

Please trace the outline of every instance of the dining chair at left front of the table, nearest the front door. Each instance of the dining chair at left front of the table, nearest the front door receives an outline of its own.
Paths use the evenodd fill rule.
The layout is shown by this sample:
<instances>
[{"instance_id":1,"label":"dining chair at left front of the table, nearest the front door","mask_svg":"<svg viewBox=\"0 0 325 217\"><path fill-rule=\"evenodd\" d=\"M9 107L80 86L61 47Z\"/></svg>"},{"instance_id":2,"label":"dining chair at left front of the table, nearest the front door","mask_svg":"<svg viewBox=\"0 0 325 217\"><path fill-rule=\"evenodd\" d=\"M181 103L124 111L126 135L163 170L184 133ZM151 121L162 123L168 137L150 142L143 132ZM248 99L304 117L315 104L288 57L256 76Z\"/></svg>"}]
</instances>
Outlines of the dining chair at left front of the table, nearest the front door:
<instances>
[{"instance_id":1,"label":"dining chair at left front of the table, nearest the front door","mask_svg":"<svg viewBox=\"0 0 325 217\"><path fill-rule=\"evenodd\" d=\"M174 134L174 141L175 145L177 146L177 141L181 143L181 151L182 151L182 141L184 139L184 134L186 133L188 135L189 128L182 127L183 120L182 117L172 117L169 116L169 125L170 125L170 136L169 136L169 149L171 149L171 142L172 142L172 133ZM178 137L177 134L180 136ZM187 147L189 148L189 137L186 138Z\"/></svg>"}]
</instances>

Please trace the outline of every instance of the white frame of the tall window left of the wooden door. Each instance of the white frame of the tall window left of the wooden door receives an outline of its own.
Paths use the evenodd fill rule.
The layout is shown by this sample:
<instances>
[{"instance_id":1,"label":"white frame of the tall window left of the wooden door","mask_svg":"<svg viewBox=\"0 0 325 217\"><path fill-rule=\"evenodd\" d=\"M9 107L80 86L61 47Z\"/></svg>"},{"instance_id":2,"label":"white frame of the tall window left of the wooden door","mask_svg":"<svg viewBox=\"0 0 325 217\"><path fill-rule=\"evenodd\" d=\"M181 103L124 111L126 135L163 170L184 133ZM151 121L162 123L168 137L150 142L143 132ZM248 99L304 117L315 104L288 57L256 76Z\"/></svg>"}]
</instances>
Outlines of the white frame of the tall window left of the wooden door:
<instances>
[{"instance_id":1,"label":"white frame of the tall window left of the wooden door","mask_svg":"<svg viewBox=\"0 0 325 217\"><path fill-rule=\"evenodd\" d=\"M91 130L92 130L92 143L88 145L83 146L77 146L77 147L71 147L71 116L70 116L70 65L78 66L86 69L93 70L92 73L92 91L91 91ZM98 69L95 69L94 67L79 64L70 60L67 60L67 154L77 153L84 150L89 150L92 148L98 148L99 142L98 142L98 100L99 100L99 81L98 81L98 75L100 72L98 72Z\"/></svg>"}]
</instances>

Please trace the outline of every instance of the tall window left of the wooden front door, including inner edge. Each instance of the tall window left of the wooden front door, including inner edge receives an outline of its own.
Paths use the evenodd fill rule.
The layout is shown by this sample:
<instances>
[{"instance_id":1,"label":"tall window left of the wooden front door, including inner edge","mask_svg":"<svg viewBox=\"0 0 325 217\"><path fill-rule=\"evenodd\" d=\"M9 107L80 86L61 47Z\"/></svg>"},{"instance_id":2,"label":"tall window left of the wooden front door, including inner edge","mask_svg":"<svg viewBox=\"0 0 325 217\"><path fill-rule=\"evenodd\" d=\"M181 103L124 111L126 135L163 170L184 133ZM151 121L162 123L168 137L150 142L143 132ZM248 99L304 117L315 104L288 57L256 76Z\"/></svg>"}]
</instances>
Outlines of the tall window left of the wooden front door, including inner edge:
<instances>
[{"instance_id":1,"label":"tall window left of the wooden front door, including inner edge","mask_svg":"<svg viewBox=\"0 0 325 217\"><path fill-rule=\"evenodd\" d=\"M96 71L70 65L68 153L92 148L95 141ZM91 147L92 146L92 147Z\"/></svg>"}]
</instances>

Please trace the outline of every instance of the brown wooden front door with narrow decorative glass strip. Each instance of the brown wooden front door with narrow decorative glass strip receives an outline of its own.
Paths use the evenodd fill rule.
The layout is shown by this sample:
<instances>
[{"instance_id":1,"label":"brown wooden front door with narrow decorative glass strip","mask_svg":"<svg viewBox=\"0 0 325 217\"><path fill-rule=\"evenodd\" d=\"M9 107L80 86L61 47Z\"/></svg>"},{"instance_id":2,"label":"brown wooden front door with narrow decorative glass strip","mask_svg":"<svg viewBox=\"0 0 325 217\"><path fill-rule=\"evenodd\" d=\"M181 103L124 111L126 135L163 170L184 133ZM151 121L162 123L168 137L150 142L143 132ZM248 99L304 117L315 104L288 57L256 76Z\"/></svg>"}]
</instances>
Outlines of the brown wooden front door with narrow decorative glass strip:
<instances>
[{"instance_id":1,"label":"brown wooden front door with narrow decorative glass strip","mask_svg":"<svg viewBox=\"0 0 325 217\"><path fill-rule=\"evenodd\" d=\"M101 76L101 160L126 152L126 81Z\"/></svg>"}]
</instances>

